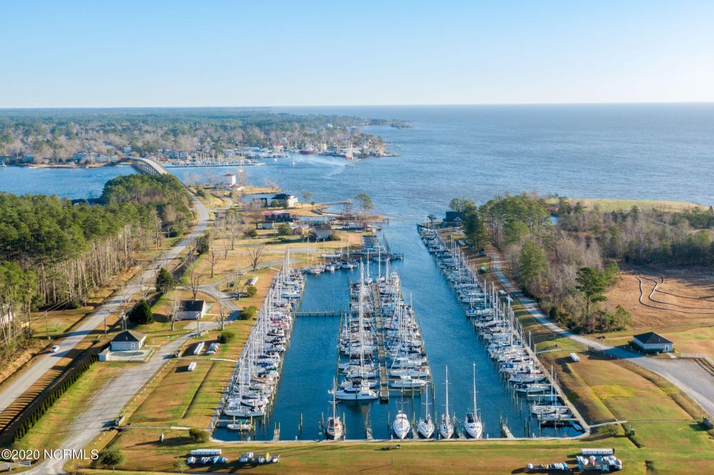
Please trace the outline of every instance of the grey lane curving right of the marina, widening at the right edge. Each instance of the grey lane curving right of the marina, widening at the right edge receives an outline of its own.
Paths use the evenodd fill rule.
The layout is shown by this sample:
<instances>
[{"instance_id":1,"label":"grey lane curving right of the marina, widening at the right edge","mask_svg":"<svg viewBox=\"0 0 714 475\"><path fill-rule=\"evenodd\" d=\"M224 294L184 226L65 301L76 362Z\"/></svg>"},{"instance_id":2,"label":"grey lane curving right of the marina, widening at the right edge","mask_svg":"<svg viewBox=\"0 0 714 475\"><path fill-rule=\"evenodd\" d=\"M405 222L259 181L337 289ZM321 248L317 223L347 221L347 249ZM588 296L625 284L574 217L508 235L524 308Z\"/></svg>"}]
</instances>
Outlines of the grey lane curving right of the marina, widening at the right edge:
<instances>
[{"instance_id":1,"label":"grey lane curving right of the marina, widening at the right edge","mask_svg":"<svg viewBox=\"0 0 714 475\"><path fill-rule=\"evenodd\" d=\"M526 297L526 295L523 295L523 292L520 292L513 286L511 280L508 279L503 273L503 270L501 270L501 262L499 260L493 259L491 261L491 267L493 272L496 273L498 280L501 281L501 285L506 287L511 297L521 300L528 313L551 332L573 339L575 342L585 346L595 347L620 359L627 359L634 364L638 364L640 367L659 374L661 377L668 379L683 392L687 393L705 412L710 415L714 414L714 377L695 362L685 359L643 357L642 354L630 352L628 349L612 347L608 344L563 330L541 312L540 307L538 307L538 304L535 303L533 299Z\"/></svg>"}]
</instances>

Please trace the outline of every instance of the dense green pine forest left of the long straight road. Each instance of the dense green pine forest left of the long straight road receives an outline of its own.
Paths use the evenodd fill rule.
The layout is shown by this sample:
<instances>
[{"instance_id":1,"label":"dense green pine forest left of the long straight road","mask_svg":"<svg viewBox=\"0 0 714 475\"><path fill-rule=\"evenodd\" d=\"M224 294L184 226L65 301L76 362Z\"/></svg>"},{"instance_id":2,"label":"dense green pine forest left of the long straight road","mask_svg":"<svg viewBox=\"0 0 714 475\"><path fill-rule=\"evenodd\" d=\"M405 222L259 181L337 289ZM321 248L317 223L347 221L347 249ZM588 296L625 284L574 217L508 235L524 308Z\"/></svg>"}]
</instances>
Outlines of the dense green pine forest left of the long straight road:
<instances>
[{"instance_id":1,"label":"dense green pine forest left of the long straight road","mask_svg":"<svg viewBox=\"0 0 714 475\"><path fill-rule=\"evenodd\" d=\"M106 183L101 205L0 193L0 341L28 337L29 312L77 307L133 262L136 250L191 221L189 195L172 175ZM1 355L0 355L1 356Z\"/></svg>"}]
</instances>

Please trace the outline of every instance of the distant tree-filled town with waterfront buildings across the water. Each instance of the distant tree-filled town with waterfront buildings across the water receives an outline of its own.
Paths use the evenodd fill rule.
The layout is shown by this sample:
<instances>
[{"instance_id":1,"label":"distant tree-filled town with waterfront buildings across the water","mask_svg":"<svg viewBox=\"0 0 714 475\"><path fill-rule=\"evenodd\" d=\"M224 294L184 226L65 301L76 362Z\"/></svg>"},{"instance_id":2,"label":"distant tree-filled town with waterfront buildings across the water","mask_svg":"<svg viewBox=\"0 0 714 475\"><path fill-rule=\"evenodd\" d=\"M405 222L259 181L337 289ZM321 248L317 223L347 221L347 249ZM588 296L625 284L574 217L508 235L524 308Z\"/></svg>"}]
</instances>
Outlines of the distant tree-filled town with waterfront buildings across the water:
<instances>
[{"instance_id":1,"label":"distant tree-filled town with waterfront buildings across the water","mask_svg":"<svg viewBox=\"0 0 714 475\"><path fill-rule=\"evenodd\" d=\"M171 111L171 112L169 112ZM404 121L298 116L263 111L174 110L66 116L60 123L31 113L0 115L0 165L96 166L151 157L174 166L256 165L288 153L346 160L396 156L364 126L408 127Z\"/></svg>"}]
</instances>

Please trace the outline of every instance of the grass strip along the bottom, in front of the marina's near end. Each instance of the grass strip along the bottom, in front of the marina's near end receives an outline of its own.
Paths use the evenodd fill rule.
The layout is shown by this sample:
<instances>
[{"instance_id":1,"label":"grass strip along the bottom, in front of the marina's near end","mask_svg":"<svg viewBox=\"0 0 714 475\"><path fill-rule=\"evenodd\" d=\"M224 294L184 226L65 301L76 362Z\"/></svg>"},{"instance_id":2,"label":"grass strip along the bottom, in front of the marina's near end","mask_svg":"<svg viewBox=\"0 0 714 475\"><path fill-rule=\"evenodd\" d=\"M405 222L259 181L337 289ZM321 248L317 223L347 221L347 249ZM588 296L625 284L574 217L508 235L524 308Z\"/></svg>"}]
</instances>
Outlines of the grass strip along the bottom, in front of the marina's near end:
<instances>
[{"instance_id":1,"label":"grass strip along the bottom, in front of the marina's near end","mask_svg":"<svg viewBox=\"0 0 714 475\"><path fill-rule=\"evenodd\" d=\"M638 449L628 438L603 439L593 436L587 440L548 441L451 441L401 442L401 449L383 450L385 443L290 443L279 444L193 444L186 431L164 431L166 441L157 442L158 430L128 430L120 434L113 445L126 456L121 470L136 473L174 471L177 456L185 457L197 448L217 448L228 458L225 466L213 466L217 473L238 471L258 473L523 473L526 463L568 461L574 465L575 454L583 447L614 447L623 459L623 474L644 474L648 465L656 466L655 473L702 474L714 462L711 437L705 431L690 427L689 422L643 424L645 439L658 439L661 446ZM665 430L665 434L658 431ZM277 466L241 469L236 459L241 451L280 454ZM146 470L146 472L144 472ZM154 472L152 472L154 471ZM206 471L196 467L189 471ZM94 471L91 473L109 473Z\"/></svg>"}]
</instances>

